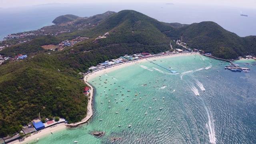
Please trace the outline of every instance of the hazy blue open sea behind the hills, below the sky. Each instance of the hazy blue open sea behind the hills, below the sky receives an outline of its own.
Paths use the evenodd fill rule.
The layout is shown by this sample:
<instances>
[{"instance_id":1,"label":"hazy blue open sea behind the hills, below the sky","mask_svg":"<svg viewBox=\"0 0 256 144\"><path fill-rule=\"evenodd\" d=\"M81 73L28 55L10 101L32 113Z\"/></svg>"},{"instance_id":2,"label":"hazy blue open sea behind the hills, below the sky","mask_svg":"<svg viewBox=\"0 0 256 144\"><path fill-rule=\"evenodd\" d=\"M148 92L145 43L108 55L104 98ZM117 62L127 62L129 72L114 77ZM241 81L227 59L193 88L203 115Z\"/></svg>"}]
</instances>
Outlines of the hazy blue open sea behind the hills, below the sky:
<instances>
[{"instance_id":1,"label":"hazy blue open sea behind the hills, below the sky","mask_svg":"<svg viewBox=\"0 0 256 144\"><path fill-rule=\"evenodd\" d=\"M213 21L224 29L239 36L256 35L255 8L235 8L224 6L195 4L47 4L31 7L0 8L0 40L8 34L37 30L52 25L52 21L61 15L74 14L80 17L102 14L108 10L136 10L162 22ZM240 16L246 14L246 16Z\"/></svg>"}]
</instances>

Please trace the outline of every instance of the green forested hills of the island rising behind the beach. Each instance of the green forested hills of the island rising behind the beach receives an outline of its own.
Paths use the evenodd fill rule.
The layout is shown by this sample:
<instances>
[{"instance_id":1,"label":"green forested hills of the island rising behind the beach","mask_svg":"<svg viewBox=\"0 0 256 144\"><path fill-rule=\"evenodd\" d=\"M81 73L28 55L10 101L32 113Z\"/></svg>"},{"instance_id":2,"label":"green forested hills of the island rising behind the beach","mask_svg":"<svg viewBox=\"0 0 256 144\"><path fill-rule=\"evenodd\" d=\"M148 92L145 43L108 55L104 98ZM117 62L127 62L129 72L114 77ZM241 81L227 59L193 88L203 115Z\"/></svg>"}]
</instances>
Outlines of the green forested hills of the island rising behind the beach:
<instances>
[{"instance_id":1,"label":"green forested hills of the island rising behind the beach","mask_svg":"<svg viewBox=\"0 0 256 144\"><path fill-rule=\"evenodd\" d=\"M67 22L66 18L68 24L62 23ZM20 125L38 117L38 112L41 117L60 116L69 122L80 121L86 116L88 100L82 94L85 84L79 80L78 72L86 72L90 66L124 54L164 52L170 50L171 40L181 36L188 47L220 58L255 54L256 36L241 38L214 22L168 24L133 10L82 19L66 15L58 18L58 22L61 24L44 29L70 29L70 32L40 35L0 51L3 56L12 57L28 54L28 58L20 62L0 65L1 136L17 132ZM74 51L71 47L60 51L41 47L78 36L89 39L74 44Z\"/></svg>"}]
</instances>

